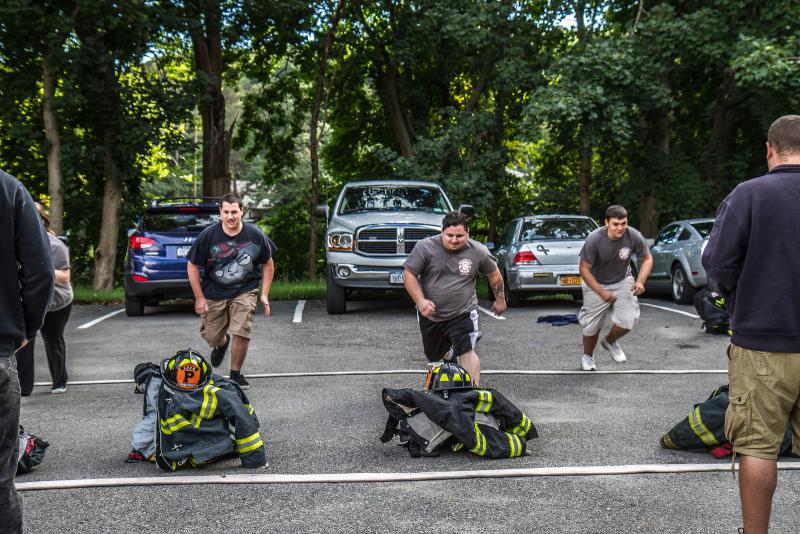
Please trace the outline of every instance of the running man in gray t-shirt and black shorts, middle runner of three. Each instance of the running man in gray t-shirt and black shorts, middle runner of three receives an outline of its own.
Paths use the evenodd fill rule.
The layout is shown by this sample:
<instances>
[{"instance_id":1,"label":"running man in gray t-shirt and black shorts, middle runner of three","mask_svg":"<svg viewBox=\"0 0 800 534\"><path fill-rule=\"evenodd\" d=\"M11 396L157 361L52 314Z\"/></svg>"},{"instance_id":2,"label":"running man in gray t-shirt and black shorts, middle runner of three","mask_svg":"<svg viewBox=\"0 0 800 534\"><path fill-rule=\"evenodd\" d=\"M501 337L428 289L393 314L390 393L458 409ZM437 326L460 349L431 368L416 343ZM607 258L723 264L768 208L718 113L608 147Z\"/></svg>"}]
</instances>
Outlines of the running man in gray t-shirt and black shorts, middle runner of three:
<instances>
[{"instance_id":1,"label":"running man in gray t-shirt and black shorts, middle runner of three","mask_svg":"<svg viewBox=\"0 0 800 534\"><path fill-rule=\"evenodd\" d=\"M442 233L423 239L404 264L403 283L417 306L422 346L429 361L449 357L480 383L481 363L475 345L478 326L478 273L489 278L495 295L492 311L506 311L503 277L485 245L469 238L467 216L451 211L442 220Z\"/></svg>"}]
</instances>

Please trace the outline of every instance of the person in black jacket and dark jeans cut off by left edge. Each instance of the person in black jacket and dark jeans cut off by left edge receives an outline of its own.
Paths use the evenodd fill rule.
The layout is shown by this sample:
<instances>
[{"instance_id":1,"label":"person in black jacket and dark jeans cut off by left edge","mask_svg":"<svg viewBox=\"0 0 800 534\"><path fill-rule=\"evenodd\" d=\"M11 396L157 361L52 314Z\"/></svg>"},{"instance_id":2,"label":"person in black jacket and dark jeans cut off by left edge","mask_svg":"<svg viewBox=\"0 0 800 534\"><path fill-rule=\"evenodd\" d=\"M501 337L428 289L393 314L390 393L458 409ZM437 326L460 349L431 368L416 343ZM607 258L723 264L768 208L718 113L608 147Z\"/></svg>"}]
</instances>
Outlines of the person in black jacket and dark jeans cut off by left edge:
<instances>
[{"instance_id":1,"label":"person in black jacket and dark jeans cut off by left edge","mask_svg":"<svg viewBox=\"0 0 800 534\"><path fill-rule=\"evenodd\" d=\"M14 487L20 390L15 353L36 336L53 298L55 275L47 238L30 193L0 171L0 533L22 532Z\"/></svg>"}]
</instances>

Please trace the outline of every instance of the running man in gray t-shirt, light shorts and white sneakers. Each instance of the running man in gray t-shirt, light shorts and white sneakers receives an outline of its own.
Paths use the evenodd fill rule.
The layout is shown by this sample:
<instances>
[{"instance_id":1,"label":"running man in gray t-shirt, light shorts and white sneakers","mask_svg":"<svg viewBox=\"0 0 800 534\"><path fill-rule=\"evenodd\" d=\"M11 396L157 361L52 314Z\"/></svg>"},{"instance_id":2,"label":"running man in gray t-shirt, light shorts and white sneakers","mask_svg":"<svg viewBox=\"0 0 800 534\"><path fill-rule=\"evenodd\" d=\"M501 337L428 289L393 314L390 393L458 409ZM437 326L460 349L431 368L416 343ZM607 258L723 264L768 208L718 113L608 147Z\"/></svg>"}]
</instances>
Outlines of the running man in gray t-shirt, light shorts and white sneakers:
<instances>
[{"instance_id":1,"label":"running man in gray t-shirt, light shorts and white sneakers","mask_svg":"<svg viewBox=\"0 0 800 534\"><path fill-rule=\"evenodd\" d=\"M638 295L653 268L647 242L635 228L628 226L628 212L622 206L609 206L606 225L589 234L581 249L580 273L583 278L583 306L578 322L583 329L581 368L596 371L594 348L606 316L614 326L600 341L616 362L626 361L619 338L633 329L639 319ZM630 272L631 254L639 256L639 275Z\"/></svg>"}]
</instances>

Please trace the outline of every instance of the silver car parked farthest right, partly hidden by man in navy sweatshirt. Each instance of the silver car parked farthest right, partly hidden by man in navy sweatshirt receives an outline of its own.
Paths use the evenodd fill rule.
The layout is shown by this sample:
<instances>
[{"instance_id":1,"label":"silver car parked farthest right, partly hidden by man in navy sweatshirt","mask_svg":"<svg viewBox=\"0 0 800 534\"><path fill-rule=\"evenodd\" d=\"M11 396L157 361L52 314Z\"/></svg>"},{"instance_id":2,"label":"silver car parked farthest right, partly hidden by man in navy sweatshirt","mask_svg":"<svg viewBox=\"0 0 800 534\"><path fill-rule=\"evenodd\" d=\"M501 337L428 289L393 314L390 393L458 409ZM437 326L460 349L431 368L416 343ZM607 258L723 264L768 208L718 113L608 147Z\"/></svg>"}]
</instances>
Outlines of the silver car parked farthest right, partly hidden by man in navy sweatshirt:
<instances>
[{"instance_id":1,"label":"silver car parked farthest right, partly hidden by man in navy sweatshirt","mask_svg":"<svg viewBox=\"0 0 800 534\"><path fill-rule=\"evenodd\" d=\"M665 226L650 247L653 271L645 288L669 291L675 302L690 303L697 290L706 285L700 259L713 226L714 219L687 219ZM637 267L634 260L634 270Z\"/></svg>"}]
</instances>

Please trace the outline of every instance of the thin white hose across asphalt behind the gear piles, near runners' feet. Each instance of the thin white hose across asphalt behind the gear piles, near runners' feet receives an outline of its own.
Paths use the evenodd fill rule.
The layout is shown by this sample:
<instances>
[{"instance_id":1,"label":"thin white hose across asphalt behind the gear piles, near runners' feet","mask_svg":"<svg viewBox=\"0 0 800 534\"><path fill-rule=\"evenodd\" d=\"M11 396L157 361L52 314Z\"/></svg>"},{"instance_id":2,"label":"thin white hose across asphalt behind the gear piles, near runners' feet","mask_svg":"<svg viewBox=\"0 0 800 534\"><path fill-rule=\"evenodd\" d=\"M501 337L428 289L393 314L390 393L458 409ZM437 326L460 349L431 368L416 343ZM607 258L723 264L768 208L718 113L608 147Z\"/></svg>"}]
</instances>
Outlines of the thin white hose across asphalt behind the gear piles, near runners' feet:
<instances>
[{"instance_id":1,"label":"thin white hose across asphalt behind the gear piles, near runners' feet","mask_svg":"<svg viewBox=\"0 0 800 534\"><path fill-rule=\"evenodd\" d=\"M425 369L387 369L384 371L319 371L308 373L247 373L247 378L304 378L310 376L365 376L365 375L423 375ZM612 371L484 369L482 375L560 376L560 375L724 375L727 369L620 369ZM97 386L103 384L133 384L131 378L107 380L70 380L68 386ZM50 382L36 382L34 386L52 387Z\"/></svg>"}]
</instances>

